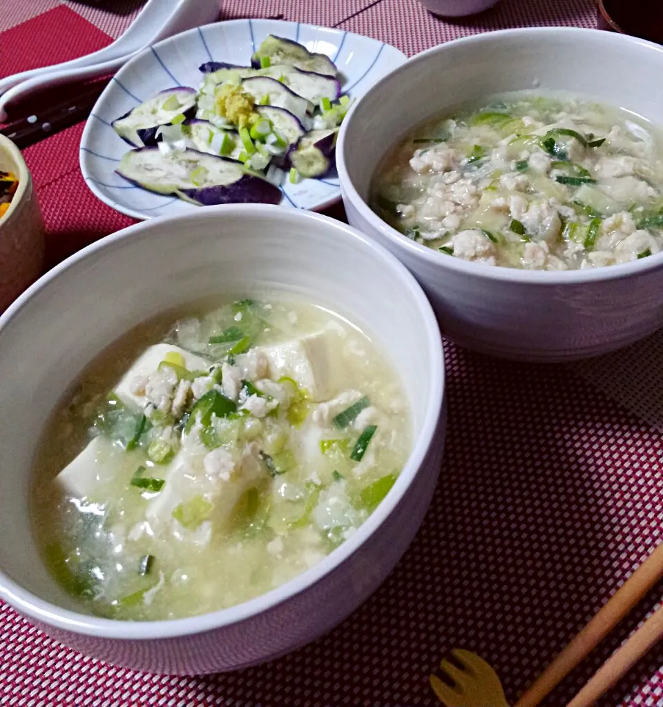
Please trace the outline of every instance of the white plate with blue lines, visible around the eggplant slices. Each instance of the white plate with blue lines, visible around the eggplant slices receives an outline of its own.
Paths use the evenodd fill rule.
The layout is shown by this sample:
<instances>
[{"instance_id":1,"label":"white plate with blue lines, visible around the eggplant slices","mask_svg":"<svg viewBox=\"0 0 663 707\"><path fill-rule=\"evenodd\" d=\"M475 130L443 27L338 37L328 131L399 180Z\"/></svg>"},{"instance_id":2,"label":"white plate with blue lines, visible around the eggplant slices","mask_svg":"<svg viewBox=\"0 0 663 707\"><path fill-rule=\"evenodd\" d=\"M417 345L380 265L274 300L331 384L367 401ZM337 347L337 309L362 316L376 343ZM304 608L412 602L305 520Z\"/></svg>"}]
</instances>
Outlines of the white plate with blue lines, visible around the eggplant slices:
<instances>
[{"instance_id":1,"label":"white plate with blue lines, visible around the eggplant slices","mask_svg":"<svg viewBox=\"0 0 663 707\"><path fill-rule=\"evenodd\" d=\"M155 93L173 86L198 88L204 62L250 64L250 56L267 35L300 42L326 54L338 66L342 92L361 98L382 76L405 61L395 47L342 30L277 20L231 20L183 32L144 49L120 69L100 95L81 139L81 171L101 201L133 218L175 216L200 206L154 194L115 173L129 146L110 123ZM318 211L340 198L338 175L291 184L284 175L284 206Z\"/></svg>"}]
</instances>

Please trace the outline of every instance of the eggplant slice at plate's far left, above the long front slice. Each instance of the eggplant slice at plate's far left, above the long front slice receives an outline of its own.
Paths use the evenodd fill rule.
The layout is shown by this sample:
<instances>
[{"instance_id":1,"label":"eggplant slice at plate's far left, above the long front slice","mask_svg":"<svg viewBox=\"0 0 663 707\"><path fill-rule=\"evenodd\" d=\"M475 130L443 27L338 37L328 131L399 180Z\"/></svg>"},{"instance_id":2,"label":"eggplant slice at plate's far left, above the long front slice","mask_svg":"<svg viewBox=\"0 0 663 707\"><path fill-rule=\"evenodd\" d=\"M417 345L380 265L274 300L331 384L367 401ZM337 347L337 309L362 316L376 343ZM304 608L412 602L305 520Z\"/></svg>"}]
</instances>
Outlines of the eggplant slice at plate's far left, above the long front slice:
<instances>
[{"instance_id":1,"label":"eggplant slice at plate's far left, above the long front slice","mask_svg":"<svg viewBox=\"0 0 663 707\"><path fill-rule=\"evenodd\" d=\"M193 117L195 110L195 89L186 86L166 88L115 119L112 125L129 145L144 147L156 144L159 127L171 124L173 118L179 115Z\"/></svg>"}]
</instances>

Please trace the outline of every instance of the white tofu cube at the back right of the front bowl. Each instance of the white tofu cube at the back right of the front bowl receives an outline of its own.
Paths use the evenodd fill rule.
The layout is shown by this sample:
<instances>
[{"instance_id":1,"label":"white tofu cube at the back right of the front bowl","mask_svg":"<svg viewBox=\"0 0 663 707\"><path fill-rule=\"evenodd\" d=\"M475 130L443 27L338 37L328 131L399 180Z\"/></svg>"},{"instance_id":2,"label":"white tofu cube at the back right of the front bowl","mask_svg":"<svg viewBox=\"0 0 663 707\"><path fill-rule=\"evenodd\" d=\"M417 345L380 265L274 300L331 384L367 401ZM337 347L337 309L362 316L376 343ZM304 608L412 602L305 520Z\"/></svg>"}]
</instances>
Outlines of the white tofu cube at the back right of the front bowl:
<instances>
[{"instance_id":1,"label":"white tofu cube at the back right of the front bowl","mask_svg":"<svg viewBox=\"0 0 663 707\"><path fill-rule=\"evenodd\" d=\"M343 385L340 337L333 329L260 350L267 356L272 380L289 376L314 402L329 399Z\"/></svg>"}]
</instances>

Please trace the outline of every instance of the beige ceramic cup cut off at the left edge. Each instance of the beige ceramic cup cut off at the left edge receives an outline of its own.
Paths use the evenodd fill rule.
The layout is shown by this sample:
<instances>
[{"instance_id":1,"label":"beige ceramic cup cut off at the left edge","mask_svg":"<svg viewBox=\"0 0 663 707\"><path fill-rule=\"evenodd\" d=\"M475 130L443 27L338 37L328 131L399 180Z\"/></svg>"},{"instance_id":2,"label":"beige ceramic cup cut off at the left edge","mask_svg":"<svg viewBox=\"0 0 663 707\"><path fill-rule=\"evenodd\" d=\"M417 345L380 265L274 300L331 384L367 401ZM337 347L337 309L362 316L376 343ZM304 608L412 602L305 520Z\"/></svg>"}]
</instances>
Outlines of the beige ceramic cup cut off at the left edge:
<instances>
[{"instance_id":1,"label":"beige ceramic cup cut off at the left edge","mask_svg":"<svg viewBox=\"0 0 663 707\"><path fill-rule=\"evenodd\" d=\"M44 224L33 180L21 151L0 135L0 170L18 177L9 209L0 217L0 312L40 276Z\"/></svg>"}]
</instances>

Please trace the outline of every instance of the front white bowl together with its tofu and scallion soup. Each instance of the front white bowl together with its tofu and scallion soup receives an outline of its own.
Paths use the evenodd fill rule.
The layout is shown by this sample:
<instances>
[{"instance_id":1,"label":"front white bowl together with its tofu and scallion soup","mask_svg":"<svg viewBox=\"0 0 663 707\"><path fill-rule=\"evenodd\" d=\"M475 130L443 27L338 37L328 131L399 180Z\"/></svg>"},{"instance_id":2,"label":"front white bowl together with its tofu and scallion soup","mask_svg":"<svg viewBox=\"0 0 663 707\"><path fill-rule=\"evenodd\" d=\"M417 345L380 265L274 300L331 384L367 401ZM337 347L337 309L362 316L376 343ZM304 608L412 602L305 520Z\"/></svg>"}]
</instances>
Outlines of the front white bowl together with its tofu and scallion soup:
<instances>
[{"instance_id":1,"label":"front white bowl together with its tofu and scallion soup","mask_svg":"<svg viewBox=\"0 0 663 707\"><path fill-rule=\"evenodd\" d=\"M316 638L386 577L437 480L432 310L316 214L127 228L6 312L0 356L0 595L103 660L218 672ZM18 390L38 404L11 412Z\"/></svg>"}]
</instances>

